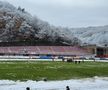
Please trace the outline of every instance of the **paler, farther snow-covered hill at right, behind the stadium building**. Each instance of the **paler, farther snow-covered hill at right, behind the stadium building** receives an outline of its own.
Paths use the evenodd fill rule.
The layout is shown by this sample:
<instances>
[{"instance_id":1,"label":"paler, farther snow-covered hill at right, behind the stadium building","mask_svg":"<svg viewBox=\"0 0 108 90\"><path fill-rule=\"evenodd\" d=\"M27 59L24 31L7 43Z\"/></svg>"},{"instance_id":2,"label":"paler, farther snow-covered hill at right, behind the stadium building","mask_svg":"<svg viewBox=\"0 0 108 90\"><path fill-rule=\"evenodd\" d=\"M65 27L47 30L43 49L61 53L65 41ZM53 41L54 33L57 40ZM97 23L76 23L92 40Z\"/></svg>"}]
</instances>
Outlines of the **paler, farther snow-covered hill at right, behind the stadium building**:
<instances>
[{"instance_id":1,"label":"paler, farther snow-covered hill at right, behind the stadium building","mask_svg":"<svg viewBox=\"0 0 108 90\"><path fill-rule=\"evenodd\" d=\"M108 25L87 28L72 28L71 32L74 36L79 38L83 44L108 46Z\"/></svg>"}]
</instances>

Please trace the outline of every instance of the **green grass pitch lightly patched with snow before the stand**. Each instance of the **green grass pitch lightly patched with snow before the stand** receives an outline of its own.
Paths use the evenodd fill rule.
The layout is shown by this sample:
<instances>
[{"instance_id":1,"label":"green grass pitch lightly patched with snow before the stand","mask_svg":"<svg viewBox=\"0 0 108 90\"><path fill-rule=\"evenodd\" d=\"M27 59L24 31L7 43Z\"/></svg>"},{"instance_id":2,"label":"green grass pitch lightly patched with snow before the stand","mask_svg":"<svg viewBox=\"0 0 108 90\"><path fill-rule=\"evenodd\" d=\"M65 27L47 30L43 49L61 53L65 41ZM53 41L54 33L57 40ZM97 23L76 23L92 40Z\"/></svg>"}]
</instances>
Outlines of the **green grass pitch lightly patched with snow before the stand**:
<instances>
[{"instance_id":1,"label":"green grass pitch lightly patched with snow before the stand","mask_svg":"<svg viewBox=\"0 0 108 90\"><path fill-rule=\"evenodd\" d=\"M65 80L93 76L108 76L108 63L84 62L0 62L0 79L10 80Z\"/></svg>"}]
</instances>

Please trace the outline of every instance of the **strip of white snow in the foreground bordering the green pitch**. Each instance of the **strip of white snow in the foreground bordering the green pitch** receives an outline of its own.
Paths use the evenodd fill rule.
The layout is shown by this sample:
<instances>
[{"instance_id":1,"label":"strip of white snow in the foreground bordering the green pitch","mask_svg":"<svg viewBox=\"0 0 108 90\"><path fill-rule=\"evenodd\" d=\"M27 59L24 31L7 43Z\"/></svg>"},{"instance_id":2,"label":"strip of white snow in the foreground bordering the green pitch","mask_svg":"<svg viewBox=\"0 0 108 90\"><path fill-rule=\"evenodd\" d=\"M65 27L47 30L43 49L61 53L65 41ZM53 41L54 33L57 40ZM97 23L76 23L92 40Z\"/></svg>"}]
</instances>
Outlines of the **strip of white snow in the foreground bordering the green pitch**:
<instances>
[{"instance_id":1,"label":"strip of white snow in the foreground bordering the green pitch","mask_svg":"<svg viewBox=\"0 0 108 90\"><path fill-rule=\"evenodd\" d=\"M0 80L0 90L108 90L108 77L94 77L86 79L72 79L63 81L9 81Z\"/></svg>"}]
</instances>

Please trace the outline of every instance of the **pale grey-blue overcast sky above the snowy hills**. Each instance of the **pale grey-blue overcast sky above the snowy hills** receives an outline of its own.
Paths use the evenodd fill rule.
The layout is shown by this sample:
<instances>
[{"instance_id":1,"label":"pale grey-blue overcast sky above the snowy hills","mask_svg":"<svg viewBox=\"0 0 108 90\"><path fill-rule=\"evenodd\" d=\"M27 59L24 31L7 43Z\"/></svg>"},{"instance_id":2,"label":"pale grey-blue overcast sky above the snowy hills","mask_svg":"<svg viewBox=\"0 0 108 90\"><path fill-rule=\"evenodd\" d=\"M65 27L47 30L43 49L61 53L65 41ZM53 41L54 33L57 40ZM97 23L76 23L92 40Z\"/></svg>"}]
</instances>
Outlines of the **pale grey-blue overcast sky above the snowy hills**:
<instances>
[{"instance_id":1,"label":"pale grey-blue overcast sky above the snowy hills","mask_svg":"<svg viewBox=\"0 0 108 90\"><path fill-rule=\"evenodd\" d=\"M108 25L108 0L2 0L55 26Z\"/></svg>"}]
</instances>

